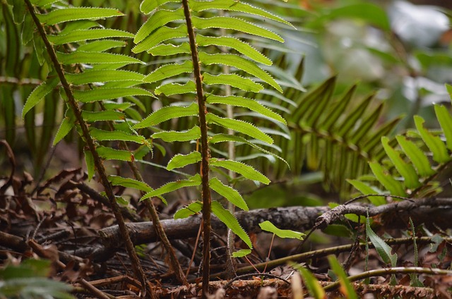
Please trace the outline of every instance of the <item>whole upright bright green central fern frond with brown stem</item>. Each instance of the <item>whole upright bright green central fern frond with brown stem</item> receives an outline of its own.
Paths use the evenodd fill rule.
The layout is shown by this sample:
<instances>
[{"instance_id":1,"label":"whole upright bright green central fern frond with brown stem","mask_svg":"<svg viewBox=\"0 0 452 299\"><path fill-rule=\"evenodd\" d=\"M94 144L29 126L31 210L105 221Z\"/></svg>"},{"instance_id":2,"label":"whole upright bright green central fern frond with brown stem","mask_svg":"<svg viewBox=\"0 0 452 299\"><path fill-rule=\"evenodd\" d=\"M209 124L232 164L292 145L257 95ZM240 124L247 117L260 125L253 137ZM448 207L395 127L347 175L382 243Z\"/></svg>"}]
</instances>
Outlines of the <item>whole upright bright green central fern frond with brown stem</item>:
<instances>
[{"instance_id":1,"label":"whole upright bright green central fern frond with brown stem","mask_svg":"<svg viewBox=\"0 0 452 299\"><path fill-rule=\"evenodd\" d=\"M154 89L155 94L179 99L177 106L167 106L153 112L133 128L150 128L172 118L198 116L198 124L184 131L157 130L151 138L160 138L165 142L189 142L201 144L201 150L194 150L189 154L177 154L169 161L167 169L184 167L201 161L198 174L185 180L170 182L161 188L152 190L142 197L142 200L164 195L179 188L201 186L202 202L194 202L182 209L175 217L189 216L195 212L203 212L203 297L208 291L210 267L210 212L218 216L228 228L242 238L251 249L249 236L239 225L233 214L222 205L211 200L210 190L221 197L225 197L233 205L247 210L248 207L242 195L237 190L225 185L219 178L210 178L211 169L227 169L259 183L268 184L270 180L256 171L252 166L239 161L210 157L210 147L221 142L244 142L258 150L268 153L256 145L260 142L271 145L273 138L253 124L230 117L219 116L214 111L222 111L221 105L237 106L240 109L249 109L262 116L285 124L284 118L256 102L254 99L242 97L239 92L259 92L263 85L270 85L279 92L282 88L275 79L263 71L256 63L270 65L271 61L254 49L248 42L237 37L218 36L220 30L233 30L246 35L256 35L283 42L283 39L274 32L261 28L254 23L233 16L217 16L218 10L240 12L262 18L268 18L280 23L285 20L274 16L261 8L256 8L243 2L234 0L144 0L141 11L150 14L148 20L138 30L134 42L133 52L147 51L153 56L177 55L176 63L165 64L157 68L143 79L146 83L160 83ZM188 37L188 40L187 40ZM213 50L213 47L215 50ZM221 49L227 47L228 52ZM230 66L234 73L219 73L216 65ZM186 77L191 73L190 77ZM249 75L244 77L243 75ZM176 77L176 78L175 78ZM234 88L236 94L220 96L215 94L218 85L228 85ZM155 85L154 85L155 86ZM193 98L193 94L195 99ZM180 104L180 100L184 104ZM215 109L209 107L215 106ZM224 129L232 129L240 135L221 133ZM220 132L220 133L218 133ZM217 152L217 151L215 151Z\"/></svg>"}]
</instances>

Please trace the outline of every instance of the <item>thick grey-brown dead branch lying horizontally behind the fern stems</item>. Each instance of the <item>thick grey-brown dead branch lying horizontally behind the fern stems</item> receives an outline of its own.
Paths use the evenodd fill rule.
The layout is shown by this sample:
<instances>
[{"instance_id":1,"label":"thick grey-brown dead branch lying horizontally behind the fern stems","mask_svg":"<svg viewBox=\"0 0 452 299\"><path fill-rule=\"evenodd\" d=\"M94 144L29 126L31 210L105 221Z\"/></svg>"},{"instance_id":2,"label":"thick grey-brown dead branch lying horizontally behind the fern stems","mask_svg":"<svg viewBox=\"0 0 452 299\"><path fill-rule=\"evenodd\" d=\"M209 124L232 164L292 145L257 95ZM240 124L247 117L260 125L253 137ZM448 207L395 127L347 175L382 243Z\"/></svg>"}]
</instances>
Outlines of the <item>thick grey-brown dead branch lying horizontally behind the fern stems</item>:
<instances>
[{"instance_id":1,"label":"thick grey-brown dead branch lying horizontally behind the fern stems","mask_svg":"<svg viewBox=\"0 0 452 299\"><path fill-rule=\"evenodd\" d=\"M408 218L414 224L439 226L451 228L452 199L451 198L425 198L414 201L393 202L388 205L374 207L372 205L340 205L334 209L329 207L282 207L271 209L255 209L249 212L237 212L235 216L245 231L260 233L258 224L269 220L275 226L283 229L306 231L314 226L324 228L338 220L344 214L358 214L365 216L379 215L385 228L408 227ZM162 220L162 226L169 239L194 238L201 224L200 216L191 216L187 219ZM152 222L139 222L127 224L134 244L150 243L157 240ZM212 227L218 233L225 233L226 226L213 217ZM100 232L102 243L107 248L121 245L121 236L117 226L110 226Z\"/></svg>"}]
</instances>

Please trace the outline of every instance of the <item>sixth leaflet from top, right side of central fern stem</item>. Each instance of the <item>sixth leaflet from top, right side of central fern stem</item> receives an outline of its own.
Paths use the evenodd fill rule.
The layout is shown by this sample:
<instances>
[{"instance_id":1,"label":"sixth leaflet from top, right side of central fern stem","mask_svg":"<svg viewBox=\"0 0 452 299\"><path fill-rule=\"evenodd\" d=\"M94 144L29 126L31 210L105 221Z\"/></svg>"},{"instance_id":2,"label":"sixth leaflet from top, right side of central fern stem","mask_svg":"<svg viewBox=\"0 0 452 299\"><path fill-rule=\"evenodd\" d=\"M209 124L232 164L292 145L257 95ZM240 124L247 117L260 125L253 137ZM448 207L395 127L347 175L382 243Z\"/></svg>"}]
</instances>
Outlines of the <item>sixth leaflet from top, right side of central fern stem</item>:
<instances>
[{"instance_id":1,"label":"sixth leaflet from top, right side of central fern stem","mask_svg":"<svg viewBox=\"0 0 452 299\"><path fill-rule=\"evenodd\" d=\"M273 118L275 121L286 124L285 119L279 114L271 111L266 106L256 102L254 99L247 99L246 97L237 97L230 95L227 97L220 97L214 94L206 94L206 102L209 104L226 104L231 106L245 107L252 111L256 111L263 116Z\"/></svg>"}]
</instances>

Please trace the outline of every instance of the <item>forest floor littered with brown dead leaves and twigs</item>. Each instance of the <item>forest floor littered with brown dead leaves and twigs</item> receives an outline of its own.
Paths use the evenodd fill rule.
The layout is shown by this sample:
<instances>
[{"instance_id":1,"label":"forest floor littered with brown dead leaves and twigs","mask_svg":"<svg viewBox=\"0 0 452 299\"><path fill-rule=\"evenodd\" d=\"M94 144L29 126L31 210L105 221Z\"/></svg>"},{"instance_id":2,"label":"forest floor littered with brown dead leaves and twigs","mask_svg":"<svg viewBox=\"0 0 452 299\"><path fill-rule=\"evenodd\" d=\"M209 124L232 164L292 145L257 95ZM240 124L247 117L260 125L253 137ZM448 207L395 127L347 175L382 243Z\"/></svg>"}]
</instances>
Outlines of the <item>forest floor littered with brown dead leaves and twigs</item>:
<instances>
[{"instance_id":1,"label":"forest floor littered with brown dead leaves and twigs","mask_svg":"<svg viewBox=\"0 0 452 299\"><path fill-rule=\"evenodd\" d=\"M103 197L85 185L85 180L85 173L81 169L61 171L39 186L35 185L34 179L27 173L4 178L4 183L0 184L3 185L0 187L0 278L6 281L8 277L13 277L8 276L14 274L5 269L33 270L30 264L27 268L23 262L25 260L47 259L50 261L47 270L44 273L30 270L32 274L69 283L72 286L71 293L77 298L140 296L141 283L133 278L131 262L121 246L120 238L118 241L109 237L109 233L115 228L114 215ZM124 189L118 188L115 191L117 195L121 195ZM159 202L155 204L162 208ZM144 207L141 207L137 199L124 202L122 209L126 219L137 224L136 230L140 230L143 221L148 219ZM306 231L316 225L316 217L322 209L328 207L312 208L316 216L310 216L311 219L305 221ZM170 209L165 209L167 210ZM446 210L450 214L451 207ZM172 215L165 214L165 211L160 209L160 216L168 219L167 224L170 225ZM270 214L273 212L277 212L277 209L268 211ZM250 214L249 217L253 215ZM287 217L290 215L287 214ZM146 234L146 229L150 229L145 228L150 225L148 222L143 224L143 231L135 230L131 233L145 274L158 298L201 297L202 240L196 238L199 218L192 216L192 219L197 219L198 222L183 222L184 228L190 228L189 232L183 232L182 236L180 233L169 236L187 274L184 283L174 279L162 245L152 236L148 237L149 240L146 236L140 236ZM383 221L383 218L374 219L374 223L378 221ZM450 224L450 218L446 222ZM182 229L180 223L177 225ZM350 225L350 228L361 231L365 229L362 224L355 224L353 227ZM391 231L386 228L385 232L387 235L393 233L393 240L398 240L393 243L388 241L393 252L398 254L398 266L447 271L451 269L452 238L444 229L438 226L429 230L424 228L424 233L420 233L418 238L412 238L409 233L400 233L400 229ZM255 250L248 260L234 260L237 269L235 274L225 272L229 255L225 250L224 230L220 228L214 234L211 240L210 298L303 298L307 288L302 288L298 271L294 267L307 267L318 279L319 286L331 285L334 279L331 278L326 259L331 254L343 262L343 267L350 276L359 274L364 269L383 270L388 266L381 262L381 257L372 249L371 243L366 250L364 243L359 245L353 238L326 238L321 233L314 233L311 240L297 252L295 249L300 245L299 240L276 238L272 242L269 234L255 233L256 229L250 227L247 230L251 231ZM410 228L407 226L405 231L409 232ZM328 243L325 243L326 240ZM237 242L237 246L239 244ZM269 257L273 262L267 267L269 250ZM297 264L292 267L288 260ZM369 276L368 281L353 282L352 286L359 297L366 295L365 298L452 298L451 273L420 274L401 270L395 276L388 273L390 272L379 272ZM20 274L16 277L20 278ZM413 285L414 277L420 281L417 286ZM396 279L395 284L393 279ZM6 298L7 296L1 295L1 291L0 286L0 298ZM346 293L344 288L334 288L326 294L328 298L343 298L344 292Z\"/></svg>"}]
</instances>

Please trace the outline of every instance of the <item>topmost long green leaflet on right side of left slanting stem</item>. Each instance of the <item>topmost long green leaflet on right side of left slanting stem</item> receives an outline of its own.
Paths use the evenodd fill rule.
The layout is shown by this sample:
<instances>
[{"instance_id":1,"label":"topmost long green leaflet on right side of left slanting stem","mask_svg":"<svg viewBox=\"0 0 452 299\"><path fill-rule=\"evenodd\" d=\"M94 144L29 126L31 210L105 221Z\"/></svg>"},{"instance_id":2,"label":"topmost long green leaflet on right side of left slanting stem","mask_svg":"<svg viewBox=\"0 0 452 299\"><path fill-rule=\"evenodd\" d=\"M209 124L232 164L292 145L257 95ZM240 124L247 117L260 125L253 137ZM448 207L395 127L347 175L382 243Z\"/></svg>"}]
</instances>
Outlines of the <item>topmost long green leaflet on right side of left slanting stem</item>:
<instances>
[{"instance_id":1,"label":"topmost long green leaflet on right side of left slanting stem","mask_svg":"<svg viewBox=\"0 0 452 299\"><path fill-rule=\"evenodd\" d=\"M71 20L99 20L118 16L124 16L124 13L114 8L68 7L50 11L45 15L37 15L37 18L46 25L55 25Z\"/></svg>"}]
</instances>

